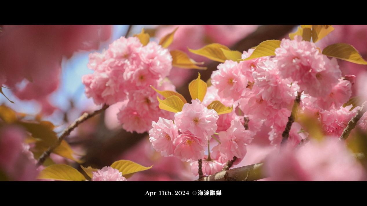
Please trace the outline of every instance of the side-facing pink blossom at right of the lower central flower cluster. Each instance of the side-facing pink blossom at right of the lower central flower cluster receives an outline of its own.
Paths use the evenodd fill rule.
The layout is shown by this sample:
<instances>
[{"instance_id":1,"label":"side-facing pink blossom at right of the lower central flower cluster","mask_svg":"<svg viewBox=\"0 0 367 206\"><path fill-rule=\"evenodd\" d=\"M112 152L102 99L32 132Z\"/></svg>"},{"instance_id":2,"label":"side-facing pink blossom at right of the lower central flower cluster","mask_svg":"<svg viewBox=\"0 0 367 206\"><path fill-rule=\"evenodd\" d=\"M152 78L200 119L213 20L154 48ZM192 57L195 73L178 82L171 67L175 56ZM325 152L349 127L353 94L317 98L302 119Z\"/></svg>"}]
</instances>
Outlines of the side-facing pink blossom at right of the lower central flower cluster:
<instances>
[{"instance_id":1,"label":"side-facing pink blossom at right of the lower central flower cluster","mask_svg":"<svg viewBox=\"0 0 367 206\"><path fill-rule=\"evenodd\" d=\"M242 159L246 154L246 145L251 143L252 137L252 132L245 130L239 118L234 119L227 131L219 132L219 151L227 157Z\"/></svg>"}]
</instances>

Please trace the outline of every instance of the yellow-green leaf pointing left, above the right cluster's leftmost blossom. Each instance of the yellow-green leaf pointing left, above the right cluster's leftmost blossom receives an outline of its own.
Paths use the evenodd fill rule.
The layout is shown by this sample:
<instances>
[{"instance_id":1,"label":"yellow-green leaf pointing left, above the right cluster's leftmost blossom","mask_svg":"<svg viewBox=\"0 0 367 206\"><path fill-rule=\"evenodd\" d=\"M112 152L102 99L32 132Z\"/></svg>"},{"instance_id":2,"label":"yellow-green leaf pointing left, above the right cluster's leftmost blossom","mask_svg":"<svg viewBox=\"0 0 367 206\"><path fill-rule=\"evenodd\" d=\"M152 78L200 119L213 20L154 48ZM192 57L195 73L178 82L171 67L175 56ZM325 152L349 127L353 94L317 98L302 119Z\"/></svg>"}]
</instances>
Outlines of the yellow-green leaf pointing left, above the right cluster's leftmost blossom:
<instances>
[{"instance_id":1,"label":"yellow-green leaf pointing left, above the right cluster's leftmost blossom","mask_svg":"<svg viewBox=\"0 0 367 206\"><path fill-rule=\"evenodd\" d=\"M224 63L224 61L227 60L227 58L226 56L224 56L222 49L230 50L228 47L224 45L213 43L197 50L189 49L189 51L196 55L207 57L208 59L211 59L213 61L219 61L221 63Z\"/></svg>"}]
</instances>

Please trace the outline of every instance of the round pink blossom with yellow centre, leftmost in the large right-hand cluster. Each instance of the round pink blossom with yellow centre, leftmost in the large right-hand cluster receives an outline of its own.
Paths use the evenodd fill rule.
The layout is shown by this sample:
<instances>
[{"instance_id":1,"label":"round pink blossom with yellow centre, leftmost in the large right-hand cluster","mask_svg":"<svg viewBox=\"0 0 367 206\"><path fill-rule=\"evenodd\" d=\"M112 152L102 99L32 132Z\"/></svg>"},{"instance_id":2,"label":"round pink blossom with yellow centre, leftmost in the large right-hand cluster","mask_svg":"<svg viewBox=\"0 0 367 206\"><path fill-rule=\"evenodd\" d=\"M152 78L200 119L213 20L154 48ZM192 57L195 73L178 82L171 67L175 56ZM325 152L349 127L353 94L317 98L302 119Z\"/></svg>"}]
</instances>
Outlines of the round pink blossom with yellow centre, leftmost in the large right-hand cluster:
<instances>
[{"instance_id":1,"label":"round pink blossom with yellow centre, leftmost in the large right-hand cluster","mask_svg":"<svg viewBox=\"0 0 367 206\"><path fill-rule=\"evenodd\" d=\"M241 73L238 63L226 60L218 65L211 75L212 85L218 89L219 97L238 100L247 87L247 78Z\"/></svg>"}]
</instances>

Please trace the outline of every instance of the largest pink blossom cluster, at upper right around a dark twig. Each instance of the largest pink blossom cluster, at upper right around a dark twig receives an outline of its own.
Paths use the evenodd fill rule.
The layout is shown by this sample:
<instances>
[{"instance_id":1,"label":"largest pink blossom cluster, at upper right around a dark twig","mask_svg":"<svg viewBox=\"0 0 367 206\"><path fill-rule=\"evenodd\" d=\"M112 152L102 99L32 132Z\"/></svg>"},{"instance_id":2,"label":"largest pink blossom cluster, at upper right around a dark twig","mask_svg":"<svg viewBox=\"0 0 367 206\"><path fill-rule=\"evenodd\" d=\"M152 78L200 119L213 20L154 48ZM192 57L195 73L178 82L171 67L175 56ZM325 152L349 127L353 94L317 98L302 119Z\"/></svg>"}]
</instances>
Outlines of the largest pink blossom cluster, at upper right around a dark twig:
<instances>
[{"instance_id":1,"label":"largest pink blossom cluster, at upper right around a dark twig","mask_svg":"<svg viewBox=\"0 0 367 206\"><path fill-rule=\"evenodd\" d=\"M243 52L242 59L252 52ZM358 109L342 107L352 95L354 78L342 77L335 59L296 36L283 39L273 58L225 61L213 72L211 83L219 97L233 101L249 118L250 131L256 133L264 124L272 129L269 140L279 145L297 92L302 93L301 110L318 115L327 134L340 135ZM291 127L289 140L294 146L305 138L300 129L298 123Z\"/></svg>"}]
</instances>

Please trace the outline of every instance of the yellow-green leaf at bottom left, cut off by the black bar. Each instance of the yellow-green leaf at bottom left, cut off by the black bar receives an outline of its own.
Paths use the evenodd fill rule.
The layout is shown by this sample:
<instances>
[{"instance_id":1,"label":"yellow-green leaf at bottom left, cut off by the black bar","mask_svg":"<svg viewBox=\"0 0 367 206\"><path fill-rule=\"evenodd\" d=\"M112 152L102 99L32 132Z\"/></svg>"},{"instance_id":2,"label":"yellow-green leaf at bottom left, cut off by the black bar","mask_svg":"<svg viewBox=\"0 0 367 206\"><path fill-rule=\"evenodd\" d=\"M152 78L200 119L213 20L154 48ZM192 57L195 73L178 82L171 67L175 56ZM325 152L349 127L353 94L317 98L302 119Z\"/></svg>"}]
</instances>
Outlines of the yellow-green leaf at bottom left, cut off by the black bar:
<instances>
[{"instance_id":1,"label":"yellow-green leaf at bottom left, cut off by the black bar","mask_svg":"<svg viewBox=\"0 0 367 206\"><path fill-rule=\"evenodd\" d=\"M51 179L51 180L63 180L63 181L84 181L86 178L83 174L77 171L75 168L59 164L50 165L44 168L37 179Z\"/></svg>"}]
</instances>

